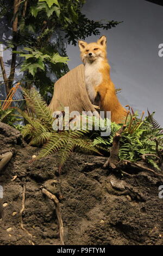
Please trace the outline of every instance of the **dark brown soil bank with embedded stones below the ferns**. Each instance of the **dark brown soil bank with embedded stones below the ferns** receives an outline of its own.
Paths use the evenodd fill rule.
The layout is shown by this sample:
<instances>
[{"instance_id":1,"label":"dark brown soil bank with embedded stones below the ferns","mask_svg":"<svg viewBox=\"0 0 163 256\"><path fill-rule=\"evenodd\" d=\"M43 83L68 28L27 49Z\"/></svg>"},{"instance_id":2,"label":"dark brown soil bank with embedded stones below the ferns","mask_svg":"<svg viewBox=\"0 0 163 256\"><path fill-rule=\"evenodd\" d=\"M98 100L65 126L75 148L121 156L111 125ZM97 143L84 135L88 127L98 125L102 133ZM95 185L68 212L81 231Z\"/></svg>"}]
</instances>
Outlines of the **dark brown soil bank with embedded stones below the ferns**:
<instances>
[{"instance_id":1,"label":"dark brown soil bank with embedded stones below the ferns","mask_svg":"<svg viewBox=\"0 0 163 256\"><path fill-rule=\"evenodd\" d=\"M82 154L72 154L59 176L57 155L32 162L39 149L28 147L2 123L0 141L0 154L14 153L0 173L0 245L60 245L54 204L42 186L60 200L66 245L163 244L161 178L147 172L111 173L102 168L105 157ZM23 185L23 225L32 236L20 228Z\"/></svg>"}]
</instances>

